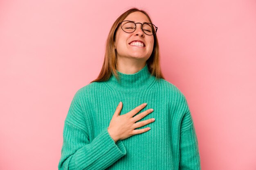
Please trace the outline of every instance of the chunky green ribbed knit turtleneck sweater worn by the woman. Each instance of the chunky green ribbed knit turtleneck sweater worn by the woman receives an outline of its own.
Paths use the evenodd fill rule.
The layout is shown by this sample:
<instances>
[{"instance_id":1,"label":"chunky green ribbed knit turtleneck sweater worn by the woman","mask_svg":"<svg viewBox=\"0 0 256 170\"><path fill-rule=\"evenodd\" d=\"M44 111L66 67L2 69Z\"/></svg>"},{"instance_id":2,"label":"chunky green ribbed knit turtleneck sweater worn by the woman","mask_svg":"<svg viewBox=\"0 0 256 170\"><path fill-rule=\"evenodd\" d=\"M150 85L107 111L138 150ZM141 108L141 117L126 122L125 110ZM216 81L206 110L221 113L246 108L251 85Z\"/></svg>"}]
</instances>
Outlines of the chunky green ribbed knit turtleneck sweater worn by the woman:
<instances>
[{"instance_id":1,"label":"chunky green ribbed knit turtleneck sweater worn by the woman","mask_svg":"<svg viewBox=\"0 0 256 170\"><path fill-rule=\"evenodd\" d=\"M135 74L119 74L121 83L112 74L108 81L90 83L74 95L64 122L58 169L200 170L198 139L182 92L151 76L147 64ZM154 111L139 121L155 122L137 128L150 127L149 131L115 143L108 126L120 101L120 115L148 103L139 113Z\"/></svg>"}]
</instances>

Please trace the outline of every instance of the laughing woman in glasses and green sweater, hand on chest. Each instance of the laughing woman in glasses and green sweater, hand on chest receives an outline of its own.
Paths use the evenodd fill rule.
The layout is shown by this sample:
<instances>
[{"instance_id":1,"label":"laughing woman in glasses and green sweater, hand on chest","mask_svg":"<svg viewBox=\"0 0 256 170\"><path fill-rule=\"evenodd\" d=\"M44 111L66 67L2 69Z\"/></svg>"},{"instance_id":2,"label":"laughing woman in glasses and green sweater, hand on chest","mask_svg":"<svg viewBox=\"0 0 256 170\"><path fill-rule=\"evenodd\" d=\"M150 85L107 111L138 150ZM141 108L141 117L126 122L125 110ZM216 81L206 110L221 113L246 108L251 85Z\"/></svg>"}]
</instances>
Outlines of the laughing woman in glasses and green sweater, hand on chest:
<instances>
[{"instance_id":1,"label":"laughing woman in glasses and green sweater, hand on chest","mask_svg":"<svg viewBox=\"0 0 256 170\"><path fill-rule=\"evenodd\" d=\"M201 169L186 98L160 70L156 32L136 8L112 25L98 78L71 102L59 169Z\"/></svg>"}]
</instances>

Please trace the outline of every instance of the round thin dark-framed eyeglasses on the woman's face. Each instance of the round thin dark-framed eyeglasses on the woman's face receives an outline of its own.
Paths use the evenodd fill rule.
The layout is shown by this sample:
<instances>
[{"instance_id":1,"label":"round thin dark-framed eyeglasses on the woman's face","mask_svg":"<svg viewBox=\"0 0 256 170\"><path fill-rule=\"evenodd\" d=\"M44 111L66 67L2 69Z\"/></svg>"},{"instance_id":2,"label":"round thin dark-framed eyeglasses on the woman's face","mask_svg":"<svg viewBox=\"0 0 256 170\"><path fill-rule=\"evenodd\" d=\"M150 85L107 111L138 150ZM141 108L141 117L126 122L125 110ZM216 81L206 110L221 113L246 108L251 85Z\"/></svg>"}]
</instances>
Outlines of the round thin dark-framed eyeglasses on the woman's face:
<instances>
[{"instance_id":1,"label":"round thin dark-framed eyeglasses on the woman's face","mask_svg":"<svg viewBox=\"0 0 256 170\"><path fill-rule=\"evenodd\" d=\"M133 21L125 20L119 22L118 26L121 25L122 30L126 33L133 33L136 30L136 24L141 24L141 30L146 35L154 35L155 33L157 33L157 27L149 22L145 22L142 24L140 22L135 23Z\"/></svg>"}]
</instances>

